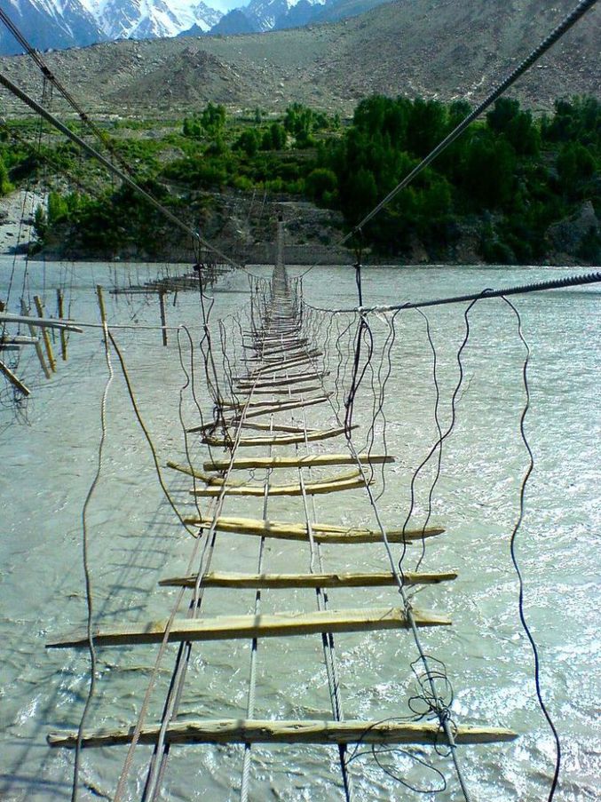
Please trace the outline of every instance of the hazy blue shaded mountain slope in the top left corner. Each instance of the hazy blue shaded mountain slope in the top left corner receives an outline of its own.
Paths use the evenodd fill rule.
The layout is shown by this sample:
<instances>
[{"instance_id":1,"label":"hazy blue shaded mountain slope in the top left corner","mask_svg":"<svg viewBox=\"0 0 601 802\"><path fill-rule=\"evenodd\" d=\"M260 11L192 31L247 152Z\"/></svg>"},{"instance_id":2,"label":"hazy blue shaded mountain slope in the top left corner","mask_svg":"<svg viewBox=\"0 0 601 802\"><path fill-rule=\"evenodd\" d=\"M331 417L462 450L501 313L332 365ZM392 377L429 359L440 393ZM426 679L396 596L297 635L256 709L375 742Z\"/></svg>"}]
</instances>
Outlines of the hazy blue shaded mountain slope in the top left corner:
<instances>
[{"instance_id":1,"label":"hazy blue shaded mountain slope in the top left corner","mask_svg":"<svg viewBox=\"0 0 601 802\"><path fill-rule=\"evenodd\" d=\"M0 0L0 8L38 50L84 47L107 38L79 0ZM20 52L19 42L0 24L0 53Z\"/></svg>"}]
</instances>

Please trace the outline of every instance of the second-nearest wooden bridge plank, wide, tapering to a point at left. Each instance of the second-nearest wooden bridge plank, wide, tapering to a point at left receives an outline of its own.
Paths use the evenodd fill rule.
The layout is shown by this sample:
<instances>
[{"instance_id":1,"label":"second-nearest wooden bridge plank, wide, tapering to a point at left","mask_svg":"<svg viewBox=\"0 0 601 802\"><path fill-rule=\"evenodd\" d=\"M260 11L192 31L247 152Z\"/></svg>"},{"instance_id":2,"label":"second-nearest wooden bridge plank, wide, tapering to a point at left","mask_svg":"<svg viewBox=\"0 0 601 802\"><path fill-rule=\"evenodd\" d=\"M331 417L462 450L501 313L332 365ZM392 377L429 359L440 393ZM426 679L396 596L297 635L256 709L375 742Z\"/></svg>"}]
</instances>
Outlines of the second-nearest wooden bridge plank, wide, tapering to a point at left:
<instances>
[{"instance_id":1,"label":"second-nearest wooden bridge plank, wide, tapering to a point at left","mask_svg":"<svg viewBox=\"0 0 601 802\"><path fill-rule=\"evenodd\" d=\"M451 621L438 613L413 610L417 626L450 626ZM114 627L93 633L94 645L125 646L161 643L167 620ZM286 612L278 615L217 615L202 618L176 618L171 624L170 643L193 640L231 640L252 638L287 638L320 632L364 632L407 629L407 615L401 607L321 610L316 613ZM46 648L87 648L84 633L46 644Z\"/></svg>"}]
</instances>

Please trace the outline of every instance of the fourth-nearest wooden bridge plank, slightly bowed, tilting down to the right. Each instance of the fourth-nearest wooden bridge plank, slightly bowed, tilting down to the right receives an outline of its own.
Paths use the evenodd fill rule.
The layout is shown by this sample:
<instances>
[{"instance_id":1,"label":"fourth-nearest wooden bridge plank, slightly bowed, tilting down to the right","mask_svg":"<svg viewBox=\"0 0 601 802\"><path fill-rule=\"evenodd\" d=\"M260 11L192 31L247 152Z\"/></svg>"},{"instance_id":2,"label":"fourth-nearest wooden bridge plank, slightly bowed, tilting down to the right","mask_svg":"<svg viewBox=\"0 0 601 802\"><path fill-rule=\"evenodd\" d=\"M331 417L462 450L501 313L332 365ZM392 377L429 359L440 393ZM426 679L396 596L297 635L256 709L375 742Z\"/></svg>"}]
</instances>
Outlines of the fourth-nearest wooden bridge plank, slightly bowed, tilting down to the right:
<instances>
[{"instance_id":1,"label":"fourth-nearest wooden bridge plank, slightly bowed, tilting down to the right","mask_svg":"<svg viewBox=\"0 0 601 802\"><path fill-rule=\"evenodd\" d=\"M289 523L283 520L263 520L260 518L237 518L222 516L217 520L201 516L185 518L186 523L202 528L209 528L215 521L215 528L219 532L232 532L237 535L256 535L261 537L276 537L282 540L308 541L305 523ZM343 527L329 523L312 523L313 539L316 543L382 543L382 532L379 529L360 527ZM440 527L422 529L389 529L386 536L390 543L421 542L422 537L442 535L445 530Z\"/></svg>"}]
</instances>

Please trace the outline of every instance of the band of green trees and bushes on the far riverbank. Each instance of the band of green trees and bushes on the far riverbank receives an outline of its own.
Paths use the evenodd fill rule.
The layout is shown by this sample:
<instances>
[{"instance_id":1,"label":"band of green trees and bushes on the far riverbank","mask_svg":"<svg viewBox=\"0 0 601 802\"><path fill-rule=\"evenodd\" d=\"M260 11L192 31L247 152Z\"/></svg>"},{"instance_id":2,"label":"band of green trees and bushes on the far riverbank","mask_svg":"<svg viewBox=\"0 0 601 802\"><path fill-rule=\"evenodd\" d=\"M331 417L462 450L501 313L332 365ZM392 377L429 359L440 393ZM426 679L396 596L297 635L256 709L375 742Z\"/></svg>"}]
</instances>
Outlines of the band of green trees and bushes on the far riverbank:
<instances>
[{"instance_id":1,"label":"band of green trees and bushes on the far riverbank","mask_svg":"<svg viewBox=\"0 0 601 802\"><path fill-rule=\"evenodd\" d=\"M279 118L259 109L228 118L225 107L209 104L158 130L122 122L111 133L138 180L191 225L202 221L203 230L226 188L312 200L340 210L352 227L469 109L463 101L375 96L341 124L337 115L299 104ZM468 238L488 262L540 262L555 253L600 261L600 123L601 104L589 97L558 101L552 115L538 118L517 100L500 99L365 226L362 243L399 259L416 250L431 259L461 258ZM51 181L47 209L36 215L41 245L68 232L90 255L159 247L162 221L146 202L100 179L71 145L50 134L37 139L33 155L0 142L4 187L9 177L19 183L58 170L87 185L66 190L64 181ZM577 234L566 234L570 218L578 218Z\"/></svg>"}]
</instances>

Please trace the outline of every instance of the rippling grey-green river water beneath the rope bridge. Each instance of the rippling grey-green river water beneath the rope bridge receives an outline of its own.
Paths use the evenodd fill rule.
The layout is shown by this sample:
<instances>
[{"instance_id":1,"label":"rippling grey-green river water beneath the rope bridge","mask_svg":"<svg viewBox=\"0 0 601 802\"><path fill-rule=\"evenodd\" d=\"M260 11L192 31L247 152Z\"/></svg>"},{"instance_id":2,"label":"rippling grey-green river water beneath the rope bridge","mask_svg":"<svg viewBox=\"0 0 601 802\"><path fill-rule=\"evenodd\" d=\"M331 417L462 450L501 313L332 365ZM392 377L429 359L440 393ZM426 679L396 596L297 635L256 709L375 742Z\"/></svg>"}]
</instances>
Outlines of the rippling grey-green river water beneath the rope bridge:
<instances>
[{"instance_id":1,"label":"rippling grey-green river water beneath the rope bridge","mask_svg":"<svg viewBox=\"0 0 601 802\"><path fill-rule=\"evenodd\" d=\"M172 271L176 268L170 268ZM269 276L265 267L250 267ZM85 265L0 260L0 295L11 287L11 311L21 291L41 294L46 312L56 314L55 288L62 287L73 319L98 322L95 297L105 287L108 319L123 351L138 409L160 465L185 461L180 412L186 426L197 422L186 390L180 356L190 359L189 341L160 332L156 296L111 295L115 285L136 284L162 272L162 266ZM290 275L304 268L291 267ZM560 278L579 270L542 267L366 267L366 305L402 303ZM304 300L316 307L354 306L354 271L318 267L304 276ZM246 309L249 282L230 274L214 288L212 319L225 320L233 337L233 314ZM526 508L516 553L525 582L524 609L541 658L542 694L562 744L558 800L581 802L601 797L601 647L599 641L599 320L600 290L553 290L512 298L530 348L530 409L525 420L534 455L526 485ZM440 421L451 416L458 379L457 351L465 336L465 304L428 310L437 352ZM229 316L229 317L228 317ZM186 322L194 343L201 337L198 296L168 297L168 324ZM329 315L312 315L320 331L340 330L344 316L328 330ZM348 319L350 320L350 318ZM347 321L348 322L348 321ZM463 384L457 393L456 420L445 441L441 474L432 498L431 524L446 528L431 538L421 570L456 570L455 582L423 588L415 607L450 615L452 627L423 630L432 657L442 661L452 682L451 712L456 723L510 727L519 737L505 744L460 748L460 759L475 800L546 799L554 765L554 745L534 695L533 656L518 618L518 581L510 560L510 535L518 518L519 489L528 466L520 435L525 403L522 377L525 349L517 317L501 299L480 301L471 310L470 338L463 349ZM371 318L375 364L390 315ZM391 347L391 373L385 388L385 438L397 461L377 474L378 507L388 527L407 514L410 479L437 439L432 354L423 318L400 313ZM337 327L337 328L336 328ZM344 328L344 326L343 326ZM217 337L217 328L214 329ZM28 333L28 332L23 332ZM54 348L59 352L59 340ZM181 353L180 353L181 351ZM198 352L195 352L198 356ZM330 365L332 367L332 365ZM115 353L115 377L107 396L107 436L102 471L88 508L94 619L100 626L166 618L176 591L159 587L164 576L186 570L193 538L182 531L156 480L145 437L130 404ZM203 411L210 401L197 363L197 397ZM384 364L387 369L387 363ZM98 463L100 400L107 383L101 331L71 334L68 360L44 379L36 354L24 353L18 375L32 390L27 404L15 406L11 393L0 406L0 798L70 798L73 753L51 750L50 731L77 726L88 680L84 651L47 650L85 623L82 568L82 510ZM385 372L385 371L384 371ZM381 374L384 375L384 374ZM376 377L377 378L377 377ZM354 422L364 437L374 408L370 377L357 396ZM326 410L310 408L311 425L331 425ZM374 450L383 448L382 418ZM325 441L316 450L338 450ZM191 441L200 464L206 451ZM251 451L251 449L244 449ZM292 453L292 452L290 452ZM162 468L178 507L191 509L186 477ZM336 472L322 469L317 478ZM283 475L283 474L282 474ZM257 477L261 478L261 477ZM278 477L278 480L280 478ZM415 523L423 522L432 473L415 486ZM319 520L373 526L358 491L315 497ZM269 516L300 520L297 499L273 498ZM229 500L225 514L260 517L253 500ZM213 568L257 568L257 540L221 535ZM396 547L397 558L400 556ZM415 568L421 549L407 549L405 568ZM328 546L326 569L384 570L379 544ZM268 542L265 570L307 571L309 556L300 544ZM390 588L333 591L333 608L395 604ZM254 592L208 591L207 615L250 612ZM262 611L311 611L310 591L264 592ZM215 642L194 647L180 716L244 718L249 687L249 644ZM89 727L135 724L151 676L156 647L104 648ZM175 649L158 672L148 722L160 719ZM349 719L407 715L414 687L410 663L415 647L407 631L336 636L344 714ZM328 718L328 684L320 638L269 639L259 645L257 718ZM126 748L83 753L80 798L112 798ZM130 774L130 798L138 798L150 748L138 747ZM163 782L165 799L234 800L241 783L239 746L173 747ZM447 788L434 794L439 774ZM354 796L360 800L458 800L461 793L450 762L423 747L381 755L378 765L367 748L349 764ZM410 790L399 778L423 793ZM336 800L343 798L337 750L332 747L275 746L252 750L253 800Z\"/></svg>"}]
</instances>

